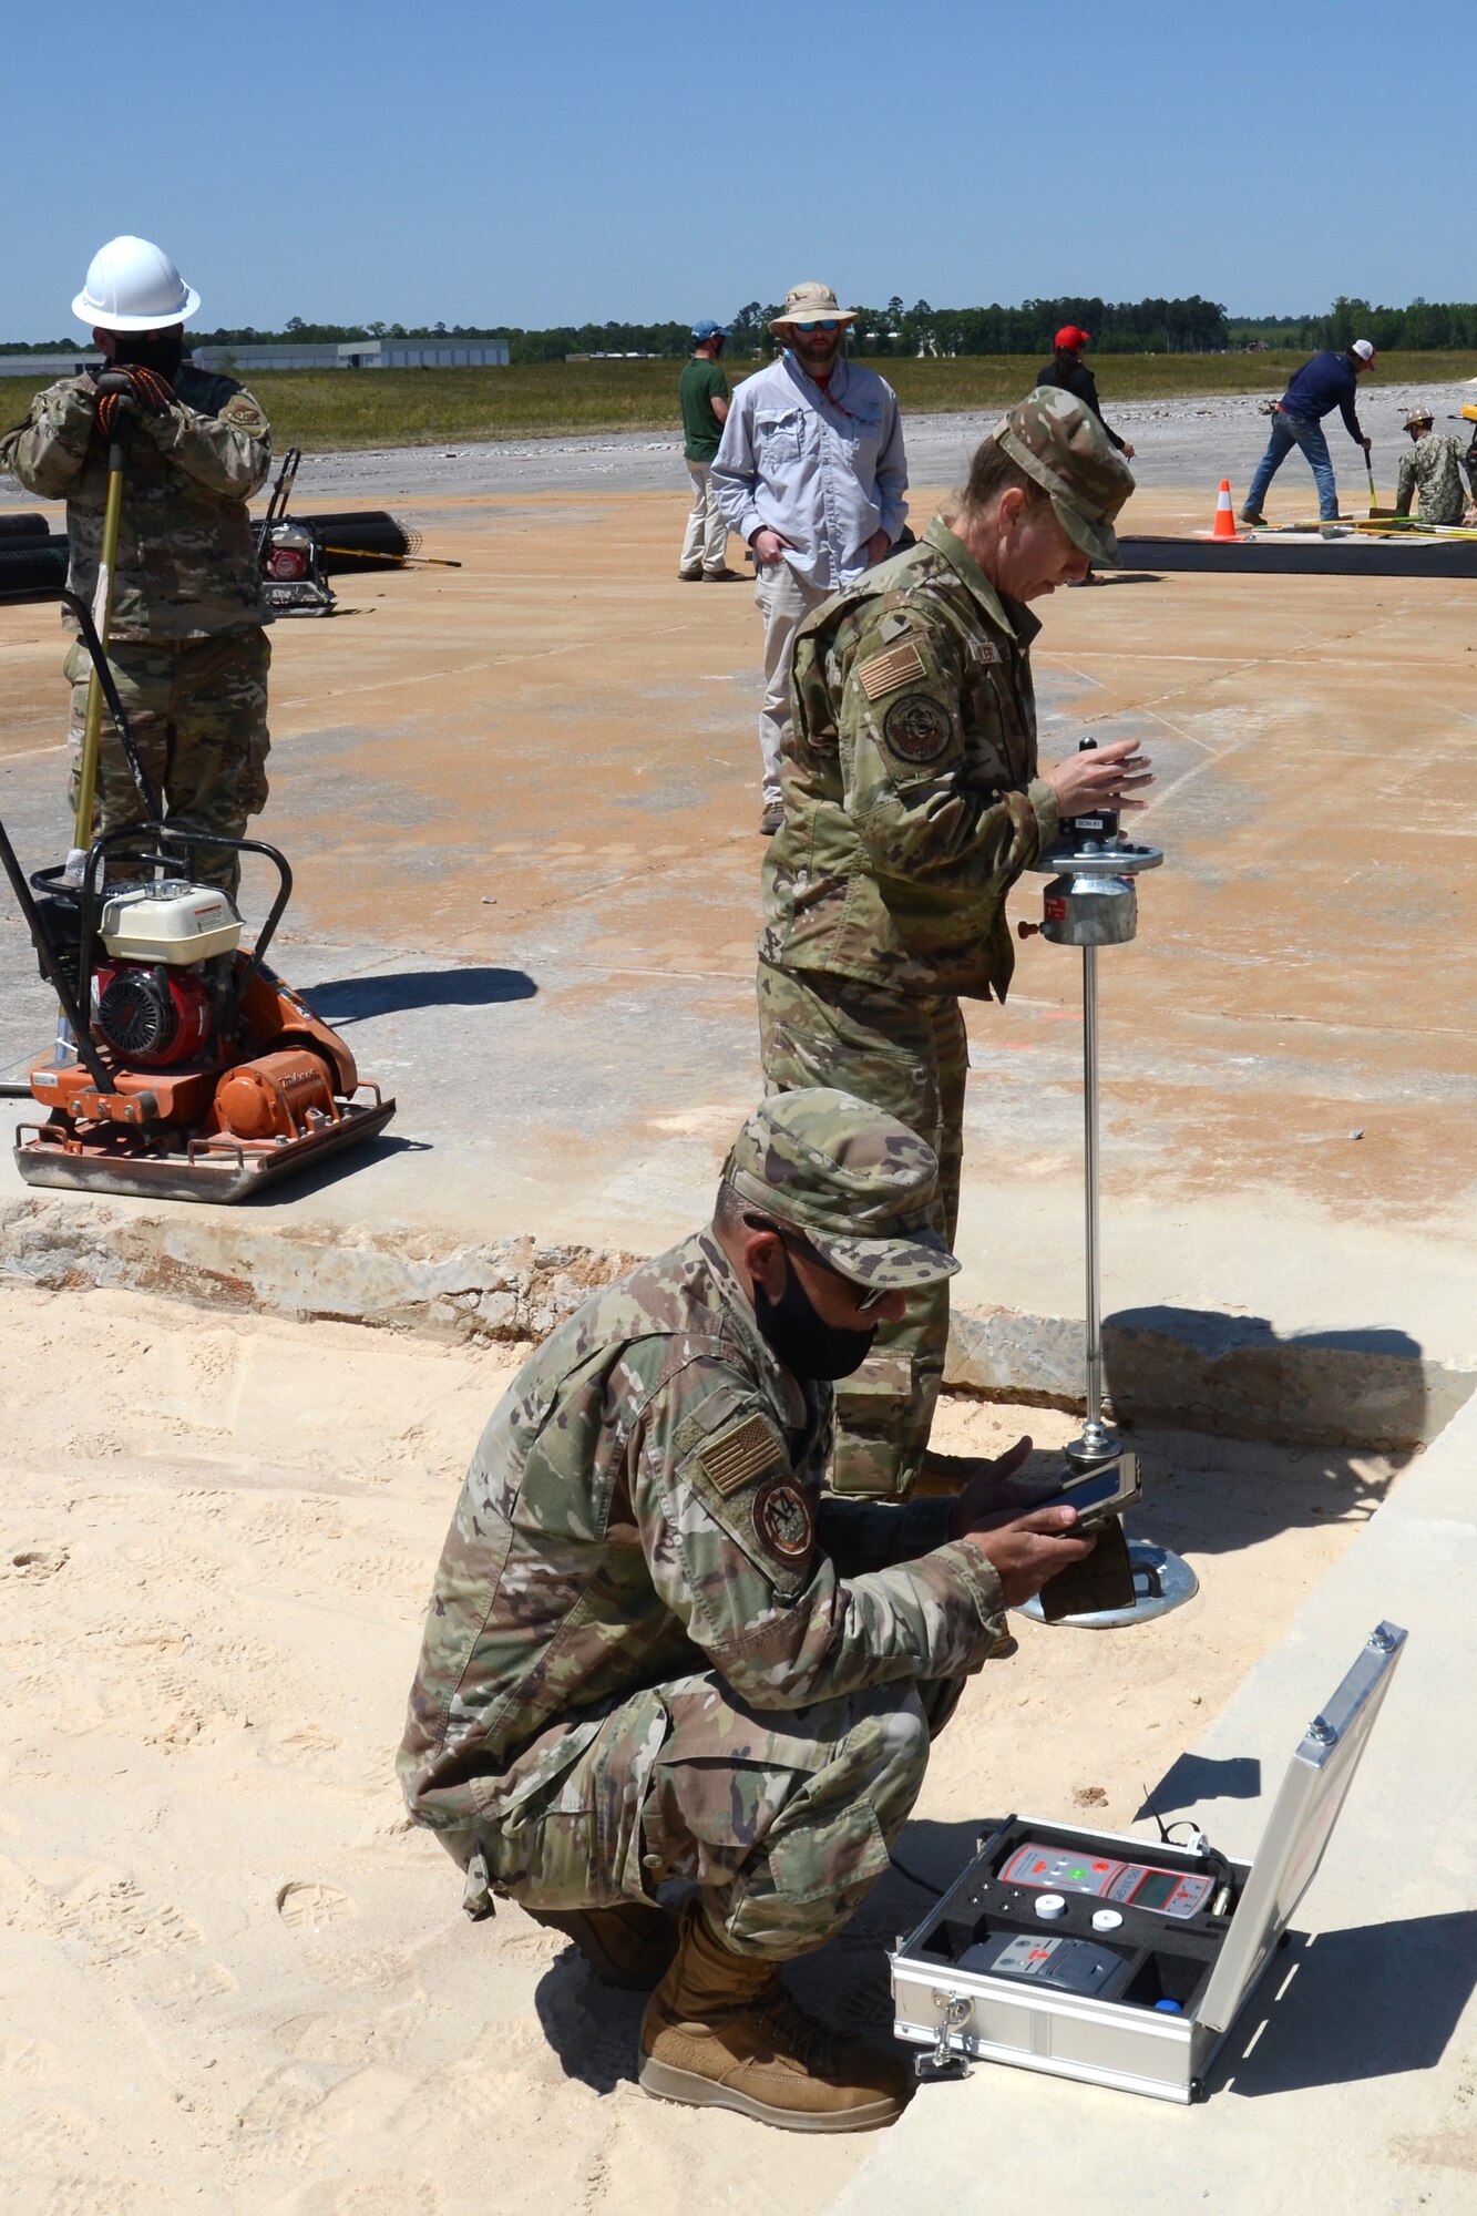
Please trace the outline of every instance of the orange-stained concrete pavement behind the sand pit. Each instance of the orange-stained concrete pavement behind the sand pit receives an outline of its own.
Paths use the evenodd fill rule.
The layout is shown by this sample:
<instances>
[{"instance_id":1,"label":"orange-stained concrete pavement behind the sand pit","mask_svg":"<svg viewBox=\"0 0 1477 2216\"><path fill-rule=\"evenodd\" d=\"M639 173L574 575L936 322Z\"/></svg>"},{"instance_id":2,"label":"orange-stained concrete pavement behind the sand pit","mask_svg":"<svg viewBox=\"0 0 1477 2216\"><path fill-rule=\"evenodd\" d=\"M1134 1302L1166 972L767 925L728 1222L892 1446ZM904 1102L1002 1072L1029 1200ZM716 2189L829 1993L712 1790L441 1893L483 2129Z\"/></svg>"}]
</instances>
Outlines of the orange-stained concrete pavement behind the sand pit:
<instances>
[{"instance_id":1,"label":"orange-stained concrete pavement behind the sand pit","mask_svg":"<svg viewBox=\"0 0 1477 2216\"><path fill-rule=\"evenodd\" d=\"M1186 494L1133 512L1204 521ZM650 1252L705 1210L758 1090L750 594L674 581L670 494L421 496L417 514L461 572L366 578L344 616L275 627L262 824L299 886L282 968L401 1108L373 1157L251 1221L262 1248L291 1228L324 1252L435 1254L448 1283L519 1241ZM1337 1350L1313 1365L1317 1436L1428 1438L1477 1369L1468 598L1164 576L1045 607L1045 751L1144 736L1169 855L1140 940L1102 964L1124 1403L1164 1414L1122 1352L1155 1332L1171 1367L1209 1347L1222 1378L1218 1350L1264 1350L1282 1378ZM64 835L53 612L0 614L0 811L40 862ZM1013 913L1033 911L1027 880ZM0 973L16 1064L49 1008L9 915ZM971 1010L971 1059L958 1292L978 1327L956 1372L1060 1394L1073 1332L1031 1374L1011 1347L1051 1338L1013 1319L1082 1312L1071 955L1022 948L1009 1008ZM160 1252L208 1237L248 1241L175 1210ZM1235 1401L1204 1369L1200 1389L1211 1420ZM1351 1389L1393 1389L1393 1425L1324 1432Z\"/></svg>"}]
</instances>

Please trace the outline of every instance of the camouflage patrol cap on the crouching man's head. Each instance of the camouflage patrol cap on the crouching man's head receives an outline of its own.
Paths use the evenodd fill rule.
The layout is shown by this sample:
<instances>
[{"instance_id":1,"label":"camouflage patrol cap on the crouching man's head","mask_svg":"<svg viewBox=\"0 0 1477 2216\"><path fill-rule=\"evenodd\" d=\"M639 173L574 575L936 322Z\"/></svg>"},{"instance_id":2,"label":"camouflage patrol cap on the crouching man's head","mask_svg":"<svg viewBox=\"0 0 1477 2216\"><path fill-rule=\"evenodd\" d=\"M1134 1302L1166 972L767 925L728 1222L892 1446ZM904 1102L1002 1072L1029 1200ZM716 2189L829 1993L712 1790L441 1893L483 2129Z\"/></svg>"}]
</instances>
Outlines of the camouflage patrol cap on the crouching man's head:
<instances>
[{"instance_id":1,"label":"camouflage patrol cap on the crouching man's head","mask_svg":"<svg viewBox=\"0 0 1477 2216\"><path fill-rule=\"evenodd\" d=\"M929 1221L934 1150L852 1092L818 1086L761 1101L723 1181L856 1285L911 1292L958 1270Z\"/></svg>"}]
</instances>

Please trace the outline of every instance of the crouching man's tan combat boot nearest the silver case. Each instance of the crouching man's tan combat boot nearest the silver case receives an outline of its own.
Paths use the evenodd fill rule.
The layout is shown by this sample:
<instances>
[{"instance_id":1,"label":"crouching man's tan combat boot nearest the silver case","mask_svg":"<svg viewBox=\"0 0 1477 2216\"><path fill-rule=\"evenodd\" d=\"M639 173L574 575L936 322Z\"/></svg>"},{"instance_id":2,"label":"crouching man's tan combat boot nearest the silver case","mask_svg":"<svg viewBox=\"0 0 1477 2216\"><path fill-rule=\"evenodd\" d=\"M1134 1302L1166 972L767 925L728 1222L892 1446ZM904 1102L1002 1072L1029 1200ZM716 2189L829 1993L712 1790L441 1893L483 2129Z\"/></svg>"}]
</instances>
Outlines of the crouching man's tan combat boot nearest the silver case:
<instances>
[{"instance_id":1,"label":"crouching man's tan combat boot nearest the silver case","mask_svg":"<svg viewBox=\"0 0 1477 2216\"><path fill-rule=\"evenodd\" d=\"M914 2083L903 2054L807 2017L772 1961L730 1952L699 1901L645 2003L639 2079L659 2101L732 2107L783 2132L876 2132Z\"/></svg>"}]
</instances>

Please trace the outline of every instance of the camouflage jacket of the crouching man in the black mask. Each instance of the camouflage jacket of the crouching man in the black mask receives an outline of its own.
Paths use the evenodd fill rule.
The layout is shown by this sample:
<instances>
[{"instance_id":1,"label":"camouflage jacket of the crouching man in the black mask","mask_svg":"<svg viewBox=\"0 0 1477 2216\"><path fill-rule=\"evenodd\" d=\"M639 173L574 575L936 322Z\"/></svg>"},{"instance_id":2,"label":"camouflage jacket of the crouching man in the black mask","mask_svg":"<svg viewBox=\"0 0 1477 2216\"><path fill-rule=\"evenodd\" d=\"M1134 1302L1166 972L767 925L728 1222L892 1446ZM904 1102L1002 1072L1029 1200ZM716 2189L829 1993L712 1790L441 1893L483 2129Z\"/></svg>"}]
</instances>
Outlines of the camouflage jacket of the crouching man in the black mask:
<instances>
[{"instance_id":1,"label":"camouflage jacket of the crouching man in the black mask","mask_svg":"<svg viewBox=\"0 0 1477 2216\"><path fill-rule=\"evenodd\" d=\"M497 1822L621 1700L692 1671L758 1711L974 1671L994 1567L947 1538L947 1500L823 1502L829 1427L829 1387L776 1363L712 1232L570 1316L461 1487L399 1751L410 1813Z\"/></svg>"}]
</instances>

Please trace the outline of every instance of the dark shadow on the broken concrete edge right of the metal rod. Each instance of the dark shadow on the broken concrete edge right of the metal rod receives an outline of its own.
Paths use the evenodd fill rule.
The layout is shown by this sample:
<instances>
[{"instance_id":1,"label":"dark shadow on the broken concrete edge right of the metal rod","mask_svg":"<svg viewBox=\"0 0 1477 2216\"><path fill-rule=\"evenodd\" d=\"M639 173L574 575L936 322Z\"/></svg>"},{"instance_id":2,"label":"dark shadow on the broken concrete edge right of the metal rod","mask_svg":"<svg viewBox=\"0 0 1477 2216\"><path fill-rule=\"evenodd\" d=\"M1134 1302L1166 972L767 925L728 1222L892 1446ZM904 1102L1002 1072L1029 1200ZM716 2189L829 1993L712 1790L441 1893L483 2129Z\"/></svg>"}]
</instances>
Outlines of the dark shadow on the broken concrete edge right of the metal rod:
<instances>
[{"instance_id":1,"label":"dark shadow on the broken concrete edge right of the metal rod","mask_svg":"<svg viewBox=\"0 0 1477 2216\"><path fill-rule=\"evenodd\" d=\"M1198 1307L1118 1310L1102 1325L1102 1363L1120 1420L1311 1447L1419 1447L1473 1389L1402 1330L1280 1338L1266 1316Z\"/></svg>"}]
</instances>

